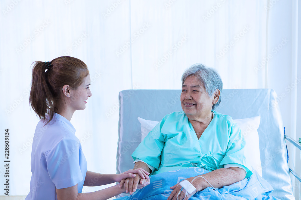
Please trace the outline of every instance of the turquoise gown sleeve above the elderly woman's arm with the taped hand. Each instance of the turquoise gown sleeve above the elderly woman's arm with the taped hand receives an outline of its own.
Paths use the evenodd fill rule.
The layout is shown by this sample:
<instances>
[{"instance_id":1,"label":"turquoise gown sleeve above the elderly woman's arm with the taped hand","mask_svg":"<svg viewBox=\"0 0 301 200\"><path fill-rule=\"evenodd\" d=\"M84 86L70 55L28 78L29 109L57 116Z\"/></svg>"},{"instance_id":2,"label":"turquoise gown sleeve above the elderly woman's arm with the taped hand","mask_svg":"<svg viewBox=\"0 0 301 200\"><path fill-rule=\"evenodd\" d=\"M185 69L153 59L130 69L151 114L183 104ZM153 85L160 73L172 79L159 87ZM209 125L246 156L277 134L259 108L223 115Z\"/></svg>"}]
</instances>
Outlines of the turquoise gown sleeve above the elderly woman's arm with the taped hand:
<instances>
[{"instance_id":1,"label":"turquoise gown sleeve above the elderly woman's arm with the taped hand","mask_svg":"<svg viewBox=\"0 0 301 200\"><path fill-rule=\"evenodd\" d=\"M233 121L230 122L227 151L219 165L223 168L223 166L227 164L238 164L240 168L246 171L245 178L248 178L253 173L245 157L245 144L246 142L240 133L240 128Z\"/></svg>"}]
</instances>

